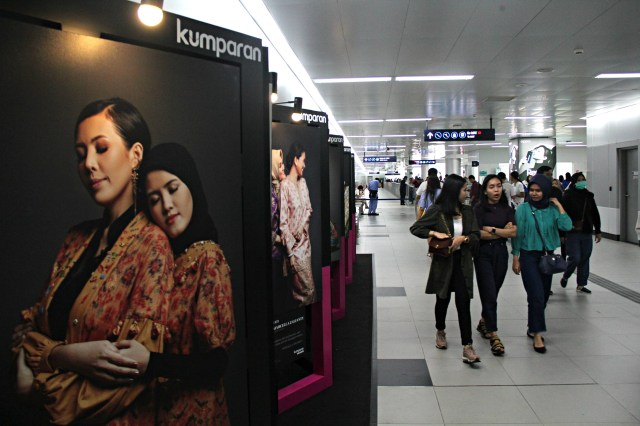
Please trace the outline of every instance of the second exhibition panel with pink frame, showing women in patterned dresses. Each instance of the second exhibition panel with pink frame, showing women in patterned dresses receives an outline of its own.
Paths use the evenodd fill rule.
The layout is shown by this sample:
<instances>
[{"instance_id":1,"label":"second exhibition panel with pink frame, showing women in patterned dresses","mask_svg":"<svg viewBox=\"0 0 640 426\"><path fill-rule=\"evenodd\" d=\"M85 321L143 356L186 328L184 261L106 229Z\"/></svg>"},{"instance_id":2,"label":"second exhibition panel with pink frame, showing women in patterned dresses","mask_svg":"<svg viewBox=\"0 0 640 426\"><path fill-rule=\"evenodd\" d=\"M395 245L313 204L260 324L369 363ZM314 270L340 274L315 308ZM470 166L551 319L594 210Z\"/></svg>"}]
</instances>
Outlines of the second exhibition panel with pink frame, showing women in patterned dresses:
<instances>
[{"instance_id":1,"label":"second exhibition panel with pink frame, showing women in patterned dresses","mask_svg":"<svg viewBox=\"0 0 640 426\"><path fill-rule=\"evenodd\" d=\"M279 411L331 386L329 131L326 115L274 105L272 149L282 150L276 214L283 258L273 270L274 350ZM272 187L273 188L273 187ZM272 192L272 200L274 199ZM272 202L272 217L273 217Z\"/></svg>"}]
</instances>

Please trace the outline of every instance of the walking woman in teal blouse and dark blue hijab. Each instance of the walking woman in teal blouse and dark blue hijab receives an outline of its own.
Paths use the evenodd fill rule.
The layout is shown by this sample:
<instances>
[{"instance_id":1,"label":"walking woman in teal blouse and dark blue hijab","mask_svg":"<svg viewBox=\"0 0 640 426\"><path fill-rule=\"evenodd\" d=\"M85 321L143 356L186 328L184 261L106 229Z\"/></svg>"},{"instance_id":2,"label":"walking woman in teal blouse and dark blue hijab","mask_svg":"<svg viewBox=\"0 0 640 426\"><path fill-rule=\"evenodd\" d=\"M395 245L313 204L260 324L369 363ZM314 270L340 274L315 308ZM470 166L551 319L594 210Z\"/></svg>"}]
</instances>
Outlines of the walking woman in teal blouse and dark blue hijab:
<instances>
[{"instance_id":1,"label":"walking woman in teal blouse and dark blue hijab","mask_svg":"<svg viewBox=\"0 0 640 426\"><path fill-rule=\"evenodd\" d=\"M547 250L560 246L558 231L571 229L571 219L556 198L550 198L551 181L542 174L529 182L529 200L516 209L518 231L511 240L513 272L522 273L529 303L529 328L533 349L546 352L542 333L547 331L544 310L549 300L553 275L540 272L538 263ZM542 237L542 238L541 238ZM544 240L544 241L543 241Z\"/></svg>"}]
</instances>

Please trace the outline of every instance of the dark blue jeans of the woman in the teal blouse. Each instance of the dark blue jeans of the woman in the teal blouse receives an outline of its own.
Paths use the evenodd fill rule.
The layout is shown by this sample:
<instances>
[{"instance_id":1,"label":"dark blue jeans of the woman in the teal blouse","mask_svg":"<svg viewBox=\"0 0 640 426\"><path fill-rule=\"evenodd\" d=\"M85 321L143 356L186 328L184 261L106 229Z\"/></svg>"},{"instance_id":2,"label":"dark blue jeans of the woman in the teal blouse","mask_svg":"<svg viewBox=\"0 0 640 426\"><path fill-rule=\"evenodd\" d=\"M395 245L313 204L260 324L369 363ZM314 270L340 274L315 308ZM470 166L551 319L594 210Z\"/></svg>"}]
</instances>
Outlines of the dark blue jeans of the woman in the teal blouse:
<instances>
[{"instance_id":1,"label":"dark blue jeans of the woman in the teal blouse","mask_svg":"<svg viewBox=\"0 0 640 426\"><path fill-rule=\"evenodd\" d=\"M520 250L520 275L527 292L529 303L529 332L547 331L544 310L549 300L551 279L553 275L545 275L538 269L542 251Z\"/></svg>"}]
</instances>

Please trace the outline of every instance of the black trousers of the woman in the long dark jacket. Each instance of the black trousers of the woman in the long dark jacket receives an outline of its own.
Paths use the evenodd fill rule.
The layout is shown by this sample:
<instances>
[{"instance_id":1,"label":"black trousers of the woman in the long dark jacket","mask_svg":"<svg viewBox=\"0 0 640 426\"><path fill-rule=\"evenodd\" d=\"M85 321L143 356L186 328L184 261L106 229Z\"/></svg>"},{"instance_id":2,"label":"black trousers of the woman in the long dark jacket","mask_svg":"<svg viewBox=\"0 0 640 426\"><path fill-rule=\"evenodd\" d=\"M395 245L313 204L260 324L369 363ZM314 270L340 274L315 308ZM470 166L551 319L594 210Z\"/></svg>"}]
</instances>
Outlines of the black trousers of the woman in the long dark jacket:
<instances>
[{"instance_id":1,"label":"black trousers of the woman in the long dark jacket","mask_svg":"<svg viewBox=\"0 0 640 426\"><path fill-rule=\"evenodd\" d=\"M447 308L451 302L451 292L456 294L456 309L458 310L458 324L460 325L460 339L463 345L473 343L471 339L471 298L462 275L460 250L453 252L453 272L449 282L449 297L441 299L436 297L436 328L444 330L446 327Z\"/></svg>"}]
</instances>

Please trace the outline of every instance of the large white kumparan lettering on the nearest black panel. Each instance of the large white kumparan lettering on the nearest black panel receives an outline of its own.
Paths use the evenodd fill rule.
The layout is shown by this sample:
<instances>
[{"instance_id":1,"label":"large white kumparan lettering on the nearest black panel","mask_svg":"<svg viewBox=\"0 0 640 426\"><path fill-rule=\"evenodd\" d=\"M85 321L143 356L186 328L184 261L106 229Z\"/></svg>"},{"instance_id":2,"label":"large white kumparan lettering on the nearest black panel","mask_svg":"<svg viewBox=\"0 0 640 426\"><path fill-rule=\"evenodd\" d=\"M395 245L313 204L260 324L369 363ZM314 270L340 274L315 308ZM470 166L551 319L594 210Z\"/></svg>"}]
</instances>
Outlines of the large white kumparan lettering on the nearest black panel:
<instances>
[{"instance_id":1,"label":"large white kumparan lettering on the nearest black panel","mask_svg":"<svg viewBox=\"0 0 640 426\"><path fill-rule=\"evenodd\" d=\"M216 58L226 54L262 62L262 50L259 47L182 28L182 22L179 18L176 18L176 43L216 52Z\"/></svg>"}]
</instances>

